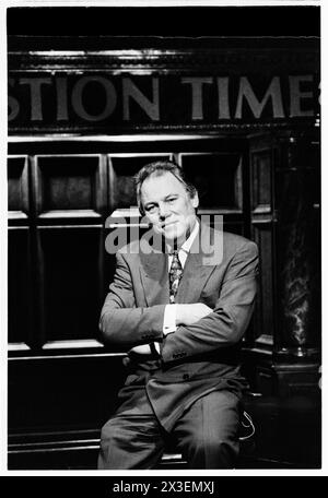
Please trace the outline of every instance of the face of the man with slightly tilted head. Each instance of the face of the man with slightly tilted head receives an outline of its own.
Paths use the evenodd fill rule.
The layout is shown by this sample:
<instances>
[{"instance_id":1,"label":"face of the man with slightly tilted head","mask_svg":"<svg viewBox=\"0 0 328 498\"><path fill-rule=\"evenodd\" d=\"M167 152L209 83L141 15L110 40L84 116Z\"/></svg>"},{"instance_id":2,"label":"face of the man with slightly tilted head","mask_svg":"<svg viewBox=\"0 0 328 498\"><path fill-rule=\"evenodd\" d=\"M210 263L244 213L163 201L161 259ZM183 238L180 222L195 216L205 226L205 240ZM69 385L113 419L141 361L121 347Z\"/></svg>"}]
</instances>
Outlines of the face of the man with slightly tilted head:
<instances>
[{"instance_id":1,"label":"face of the man with slightly tilted head","mask_svg":"<svg viewBox=\"0 0 328 498\"><path fill-rule=\"evenodd\" d=\"M185 186L169 171L148 177L140 193L145 216L154 230L168 244L183 244L196 223L197 193L190 198Z\"/></svg>"}]
</instances>

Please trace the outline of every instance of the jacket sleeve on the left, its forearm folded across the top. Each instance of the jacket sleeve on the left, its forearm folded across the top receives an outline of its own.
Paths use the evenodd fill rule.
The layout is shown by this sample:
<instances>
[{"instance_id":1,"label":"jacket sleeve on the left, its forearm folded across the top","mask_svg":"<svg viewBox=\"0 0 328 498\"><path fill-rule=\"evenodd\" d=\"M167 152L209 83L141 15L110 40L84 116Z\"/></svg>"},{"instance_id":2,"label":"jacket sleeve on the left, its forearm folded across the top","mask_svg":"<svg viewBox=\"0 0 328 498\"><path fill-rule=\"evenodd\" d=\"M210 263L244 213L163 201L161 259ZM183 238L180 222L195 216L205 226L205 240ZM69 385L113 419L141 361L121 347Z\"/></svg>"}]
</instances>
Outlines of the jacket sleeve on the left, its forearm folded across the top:
<instances>
[{"instance_id":1,"label":"jacket sleeve on the left, its forearm folded across the top","mask_svg":"<svg viewBox=\"0 0 328 498\"><path fill-rule=\"evenodd\" d=\"M105 299L99 329L104 342L126 346L161 341L165 305L136 307L132 277L124 256L116 254L116 272Z\"/></svg>"}]
</instances>

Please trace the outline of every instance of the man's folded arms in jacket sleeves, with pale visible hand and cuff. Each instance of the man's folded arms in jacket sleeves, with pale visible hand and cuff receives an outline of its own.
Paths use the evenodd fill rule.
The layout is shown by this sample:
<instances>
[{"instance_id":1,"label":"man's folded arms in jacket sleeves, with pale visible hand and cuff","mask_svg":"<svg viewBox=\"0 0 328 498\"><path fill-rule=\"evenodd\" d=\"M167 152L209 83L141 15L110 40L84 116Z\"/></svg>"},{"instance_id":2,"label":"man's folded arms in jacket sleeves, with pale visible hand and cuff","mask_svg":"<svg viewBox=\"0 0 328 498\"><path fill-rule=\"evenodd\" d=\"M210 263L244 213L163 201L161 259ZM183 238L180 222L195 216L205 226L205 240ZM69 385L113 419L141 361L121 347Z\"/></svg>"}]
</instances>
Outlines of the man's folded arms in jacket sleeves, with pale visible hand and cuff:
<instances>
[{"instance_id":1,"label":"man's folded arms in jacket sleeves, with pale visible hand and cuff","mask_svg":"<svg viewBox=\"0 0 328 498\"><path fill-rule=\"evenodd\" d=\"M177 329L164 335L164 312L171 305L136 307L129 265L125 257L117 253L114 282L101 313L104 341L127 349L159 342L163 361L174 360L180 353L190 357L231 346L242 339L251 317L257 264L257 246L246 241L229 261L223 280L218 281L219 297L213 309L203 303L173 305ZM140 353L147 351L139 349Z\"/></svg>"}]
</instances>

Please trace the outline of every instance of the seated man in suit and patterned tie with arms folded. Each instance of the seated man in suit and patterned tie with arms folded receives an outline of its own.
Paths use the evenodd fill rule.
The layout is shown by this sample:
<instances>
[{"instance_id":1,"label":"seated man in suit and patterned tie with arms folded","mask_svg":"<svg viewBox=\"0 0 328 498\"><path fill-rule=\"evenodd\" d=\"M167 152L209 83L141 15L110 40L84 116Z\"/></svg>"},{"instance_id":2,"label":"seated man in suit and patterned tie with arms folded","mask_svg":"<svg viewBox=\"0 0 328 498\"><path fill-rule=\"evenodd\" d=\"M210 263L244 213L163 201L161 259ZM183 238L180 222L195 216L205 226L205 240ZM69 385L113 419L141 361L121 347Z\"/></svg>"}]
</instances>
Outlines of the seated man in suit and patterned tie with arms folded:
<instances>
[{"instance_id":1,"label":"seated man in suit and patterned tie with arms folded","mask_svg":"<svg viewBox=\"0 0 328 498\"><path fill-rule=\"evenodd\" d=\"M153 240L165 244L148 237L117 252L99 327L105 342L129 349L129 376L102 430L98 469L154 469L168 434L190 469L232 469L257 247L227 233L215 238L199 222L198 193L174 163L144 166L137 198ZM222 241L214 257L213 239Z\"/></svg>"}]
</instances>

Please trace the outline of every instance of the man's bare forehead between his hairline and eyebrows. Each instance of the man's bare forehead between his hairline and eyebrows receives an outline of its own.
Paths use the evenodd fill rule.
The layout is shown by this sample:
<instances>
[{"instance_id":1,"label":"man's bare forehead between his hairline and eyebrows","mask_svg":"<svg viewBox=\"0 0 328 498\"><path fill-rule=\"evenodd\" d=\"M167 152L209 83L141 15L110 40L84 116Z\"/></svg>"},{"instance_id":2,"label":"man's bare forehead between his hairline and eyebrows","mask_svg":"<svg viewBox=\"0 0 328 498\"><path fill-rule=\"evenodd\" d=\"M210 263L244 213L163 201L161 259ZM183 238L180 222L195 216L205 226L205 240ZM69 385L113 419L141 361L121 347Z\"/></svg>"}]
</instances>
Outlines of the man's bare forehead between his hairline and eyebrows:
<instances>
[{"instance_id":1,"label":"man's bare forehead between his hairline and eyebrows","mask_svg":"<svg viewBox=\"0 0 328 498\"><path fill-rule=\"evenodd\" d=\"M164 199L172 193L187 194L186 187L172 173L163 175L151 175L141 186L141 197L143 202Z\"/></svg>"}]
</instances>

